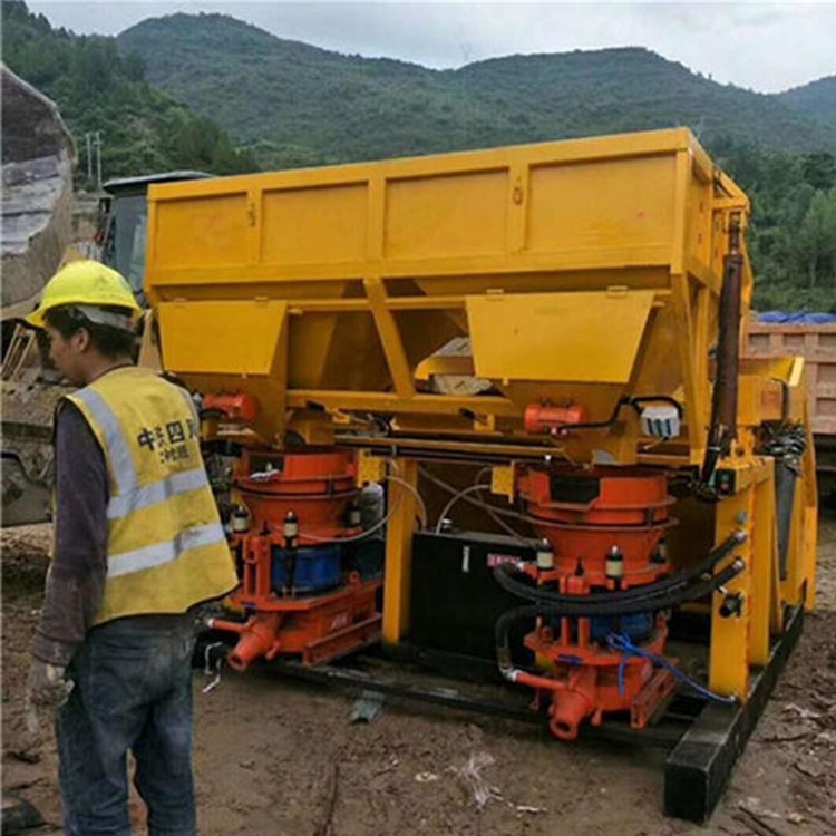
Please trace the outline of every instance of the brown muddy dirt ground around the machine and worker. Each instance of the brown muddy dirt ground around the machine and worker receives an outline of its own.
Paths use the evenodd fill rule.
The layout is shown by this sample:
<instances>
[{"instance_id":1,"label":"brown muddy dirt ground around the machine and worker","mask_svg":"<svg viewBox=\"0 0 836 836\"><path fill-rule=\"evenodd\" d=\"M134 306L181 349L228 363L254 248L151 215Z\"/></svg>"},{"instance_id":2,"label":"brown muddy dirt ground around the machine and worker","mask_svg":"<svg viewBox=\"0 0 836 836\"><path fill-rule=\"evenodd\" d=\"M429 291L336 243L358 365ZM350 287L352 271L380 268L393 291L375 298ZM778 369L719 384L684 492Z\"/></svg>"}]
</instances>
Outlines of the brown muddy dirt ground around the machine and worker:
<instances>
[{"instance_id":1,"label":"brown muddy dirt ground around the machine and worker","mask_svg":"<svg viewBox=\"0 0 836 836\"><path fill-rule=\"evenodd\" d=\"M836 833L836 514L823 516L819 606L706 828L661 814L659 750L563 745L537 727L387 700L352 725L356 693L269 672L195 673L202 836L825 836ZM60 826L54 745L16 759L43 527L2 535L2 781ZM479 808L467 765L492 797ZM479 785L479 786L482 786Z\"/></svg>"}]
</instances>

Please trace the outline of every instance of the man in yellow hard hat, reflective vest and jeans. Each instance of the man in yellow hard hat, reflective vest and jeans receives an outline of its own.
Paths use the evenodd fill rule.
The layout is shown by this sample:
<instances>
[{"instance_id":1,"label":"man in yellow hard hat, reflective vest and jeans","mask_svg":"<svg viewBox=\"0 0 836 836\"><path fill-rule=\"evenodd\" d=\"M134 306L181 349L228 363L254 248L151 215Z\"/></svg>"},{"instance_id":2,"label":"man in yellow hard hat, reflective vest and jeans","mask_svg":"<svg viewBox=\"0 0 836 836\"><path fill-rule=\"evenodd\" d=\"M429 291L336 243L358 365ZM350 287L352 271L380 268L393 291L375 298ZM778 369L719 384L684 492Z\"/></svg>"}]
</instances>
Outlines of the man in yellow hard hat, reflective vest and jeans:
<instances>
[{"instance_id":1,"label":"man in yellow hard hat, reflective vest and jeans","mask_svg":"<svg viewBox=\"0 0 836 836\"><path fill-rule=\"evenodd\" d=\"M128 751L149 833L195 833L195 622L236 584L194 402L132 359L139 312L119 273L77 261L27 318L82 387L55 416L54 554L27 684L55 718L72 836L130 834Z\"/></svg>"}]
</instances>

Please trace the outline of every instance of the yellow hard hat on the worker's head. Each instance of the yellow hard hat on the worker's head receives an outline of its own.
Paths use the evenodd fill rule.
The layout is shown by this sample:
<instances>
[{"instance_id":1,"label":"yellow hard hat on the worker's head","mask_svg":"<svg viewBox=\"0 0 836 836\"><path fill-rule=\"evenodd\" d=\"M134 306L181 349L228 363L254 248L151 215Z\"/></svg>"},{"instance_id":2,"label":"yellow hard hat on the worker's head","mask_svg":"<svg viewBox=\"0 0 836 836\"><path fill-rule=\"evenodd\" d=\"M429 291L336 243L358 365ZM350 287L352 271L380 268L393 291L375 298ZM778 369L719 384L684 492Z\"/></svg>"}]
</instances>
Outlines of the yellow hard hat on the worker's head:
<instances>
[{"instance_id":1,"label":"yellow hard hat on the worker's head","mask_svg":"<svg viewBox=\"0 0 836 836\"><path fill-rule=\"evenodd\" d=\"M43 328L43 314L61 305L118 305L132 313L142 313L130 285L120 273L98 261L71 261L62 266L43 288L40 304L26 321L36 328Z\"/></svg>"}]
</instances>

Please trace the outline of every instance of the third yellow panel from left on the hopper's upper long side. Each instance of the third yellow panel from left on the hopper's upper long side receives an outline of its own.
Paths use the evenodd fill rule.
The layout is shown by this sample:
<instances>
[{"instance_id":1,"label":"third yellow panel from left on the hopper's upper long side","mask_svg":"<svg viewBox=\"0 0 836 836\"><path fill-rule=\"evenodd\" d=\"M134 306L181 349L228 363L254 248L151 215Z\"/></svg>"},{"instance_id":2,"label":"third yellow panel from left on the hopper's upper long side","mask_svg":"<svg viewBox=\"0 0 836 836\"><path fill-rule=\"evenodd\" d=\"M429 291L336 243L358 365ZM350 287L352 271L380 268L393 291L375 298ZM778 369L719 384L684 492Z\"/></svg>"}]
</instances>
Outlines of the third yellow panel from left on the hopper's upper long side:
<instances>
[{"instance_id":1,"label":"third yellow panel from left on the hopper's upper long side","mask_svg":"<svg viewBox=\"0 0 836 836\"><path fill-rule=\"evenodd\" d=\"M507 194L506 171L390 182L387 257L504 253Z\"/></svg>"}]
</instances>

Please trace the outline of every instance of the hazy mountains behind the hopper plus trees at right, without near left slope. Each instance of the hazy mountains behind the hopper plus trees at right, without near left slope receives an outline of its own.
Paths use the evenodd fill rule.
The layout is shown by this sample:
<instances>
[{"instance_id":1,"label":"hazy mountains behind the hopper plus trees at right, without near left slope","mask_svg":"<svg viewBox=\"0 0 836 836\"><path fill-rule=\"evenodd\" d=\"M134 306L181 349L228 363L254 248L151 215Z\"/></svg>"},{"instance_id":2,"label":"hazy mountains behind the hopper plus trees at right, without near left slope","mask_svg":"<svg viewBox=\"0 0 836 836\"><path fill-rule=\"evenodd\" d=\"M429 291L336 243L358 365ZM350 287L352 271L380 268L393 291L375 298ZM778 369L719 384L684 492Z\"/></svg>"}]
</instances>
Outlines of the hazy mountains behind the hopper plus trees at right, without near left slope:
<instances>
[{"instance_id":1,"label":"hazy mountains behind the hopper plus trees at right, without near left slope","mask_svg":"<svg viewBox=\"0 0 836 836\"><path fill-rule=\"evenodd\" d=\"M148 19L119 43L263 168L688 125L752 198L756 304L836 310L832 79L762 95L638 48L439 71L282 40L221 14Z\"/></svg>"}]
</instances>

